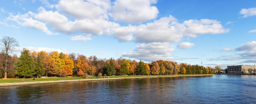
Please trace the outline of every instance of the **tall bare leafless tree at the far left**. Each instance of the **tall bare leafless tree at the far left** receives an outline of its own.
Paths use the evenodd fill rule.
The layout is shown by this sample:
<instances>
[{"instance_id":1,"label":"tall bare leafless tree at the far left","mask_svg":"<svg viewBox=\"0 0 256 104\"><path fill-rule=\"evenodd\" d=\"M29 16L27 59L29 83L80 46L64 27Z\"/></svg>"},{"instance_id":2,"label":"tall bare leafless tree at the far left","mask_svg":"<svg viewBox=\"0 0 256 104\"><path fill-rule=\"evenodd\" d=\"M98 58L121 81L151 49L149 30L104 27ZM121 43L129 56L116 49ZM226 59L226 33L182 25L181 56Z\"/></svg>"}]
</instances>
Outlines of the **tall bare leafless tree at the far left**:
<instances>
[{"instance_id":1,"label":"tall bare leafless tree at the far left","mask_svg":"<svg viewBox=\"0 0 256 104\"><path fill-rule=\"evenodd\" d=\"M5 78L7 78L7 57L9 53L12 53L13 50L15 49L15 47L19 46L19 42L13 38L13 37L9 37L9 36L3 36L3 38L0 40L0 44L1 44L1 51L4 53L5 55Z\"/></svg>"}]
</instances>

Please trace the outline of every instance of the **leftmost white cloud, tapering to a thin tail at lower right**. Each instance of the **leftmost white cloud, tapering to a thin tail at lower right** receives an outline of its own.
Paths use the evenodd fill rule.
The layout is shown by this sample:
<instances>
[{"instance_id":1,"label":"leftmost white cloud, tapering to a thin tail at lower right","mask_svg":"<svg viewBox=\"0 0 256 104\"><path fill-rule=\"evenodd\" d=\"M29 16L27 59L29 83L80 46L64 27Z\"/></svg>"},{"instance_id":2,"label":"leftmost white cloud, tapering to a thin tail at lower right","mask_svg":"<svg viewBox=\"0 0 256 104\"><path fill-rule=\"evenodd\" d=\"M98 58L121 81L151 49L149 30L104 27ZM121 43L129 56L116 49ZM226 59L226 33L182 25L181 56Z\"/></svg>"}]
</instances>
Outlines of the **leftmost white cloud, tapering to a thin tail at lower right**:
<instances>
[{"instance_id":1,"label":"leftmost white cloud, tapering to a thin tail at lower right","mask_svg":"<svg viewBox=\"0 0 256 104\"><path fill-rule=\"evenodd\" d=\"M33 12L29 11L25 13L24 15L18 14L16 16L9 14L10 16L7 18L7 20L13 20L17 24L25 27L32 27L35 29L38 29L42 32L45 32L48 35L58 35L58 33L52 33L48 30L45 23L42 23L38 20L33 19L32 17L35 15Z\"/></svg>"}]
</instances>

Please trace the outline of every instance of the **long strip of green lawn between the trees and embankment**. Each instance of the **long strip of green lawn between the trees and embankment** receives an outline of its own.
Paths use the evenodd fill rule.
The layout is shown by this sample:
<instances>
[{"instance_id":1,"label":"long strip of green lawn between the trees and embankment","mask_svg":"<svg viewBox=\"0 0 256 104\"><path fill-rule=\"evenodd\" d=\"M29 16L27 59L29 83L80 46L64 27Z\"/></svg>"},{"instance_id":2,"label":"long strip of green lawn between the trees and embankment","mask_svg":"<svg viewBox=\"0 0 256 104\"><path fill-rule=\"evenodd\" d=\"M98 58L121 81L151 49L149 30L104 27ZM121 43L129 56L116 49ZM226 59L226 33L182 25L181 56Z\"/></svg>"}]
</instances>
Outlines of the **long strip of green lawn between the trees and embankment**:
<instances>
[{"instance_id":1,"label":"long strip of green lawn between the trees and embankment","mask_svg":"<svg viewBox=\"0 0 256 104\"><path fill-rule=\"evenodd\" d=\"M204 74L205 75L205 74ZM138 76L107 76L105 78L127 78L127 77L154 77L159 75L138 75ZM189 76L189 75L160 75L160 76ZM96 79L97 76L88 77L87 79ZM98 77L98 78L104 78ZM77 79L84 79L83 77L48 77L48 78L8 78L8 79L0 79L0 84L4 83L21 83L21 82L36 82L36 81L56 81L56 80L77 80Z\"/></svg>"}]
</instances>

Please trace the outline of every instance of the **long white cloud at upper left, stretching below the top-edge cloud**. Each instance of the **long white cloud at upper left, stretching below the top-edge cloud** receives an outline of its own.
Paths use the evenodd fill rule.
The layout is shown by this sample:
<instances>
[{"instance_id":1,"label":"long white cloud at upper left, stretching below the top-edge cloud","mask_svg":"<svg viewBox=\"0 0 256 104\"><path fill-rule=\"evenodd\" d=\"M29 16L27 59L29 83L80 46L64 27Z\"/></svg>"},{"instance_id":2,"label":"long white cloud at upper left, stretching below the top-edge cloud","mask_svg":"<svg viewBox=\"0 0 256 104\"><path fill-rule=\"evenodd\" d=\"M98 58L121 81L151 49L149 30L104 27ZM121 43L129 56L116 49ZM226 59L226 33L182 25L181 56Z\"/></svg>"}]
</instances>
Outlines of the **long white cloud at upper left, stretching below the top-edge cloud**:
<instances>
[{"instance_id":1,"label":"long white cloud at upper left, stretching below the top-edge cloud","mask_svg":"<svg viewBox=\"0 0 256 104\"><path fill-rule=\"evenodd\" d=\"M77 19L70 21L66 16L60 14L58 11L45 11L44 8L39 9L39 13L35 18L50 24L55 31L75 34L85 33L92 35L110 34L112 28L119 27L120 25L104 19Z\"/></svg>"}]
</instances>

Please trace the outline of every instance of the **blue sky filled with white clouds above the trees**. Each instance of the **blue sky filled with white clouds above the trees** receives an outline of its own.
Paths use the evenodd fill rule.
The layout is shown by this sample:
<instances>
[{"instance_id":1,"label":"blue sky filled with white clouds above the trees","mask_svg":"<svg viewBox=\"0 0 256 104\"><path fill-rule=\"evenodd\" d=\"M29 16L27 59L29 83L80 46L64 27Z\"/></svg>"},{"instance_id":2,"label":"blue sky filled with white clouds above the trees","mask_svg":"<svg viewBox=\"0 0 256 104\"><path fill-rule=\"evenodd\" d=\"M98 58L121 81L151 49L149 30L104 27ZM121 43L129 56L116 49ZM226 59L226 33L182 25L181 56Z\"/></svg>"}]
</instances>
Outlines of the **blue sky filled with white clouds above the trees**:
<instances>
[{"instance_id":1,"label":"blue sky filled with white clouds above the trees","mask_svg":"<svg viewBox=\"0 0 256 104\"><path fill-rule=\"evenodd\" d=\"M0 0L0 36L15 54L58 51L99 59L204 67L256 62L255 0Z\"/></svg>"}]
</instances>

